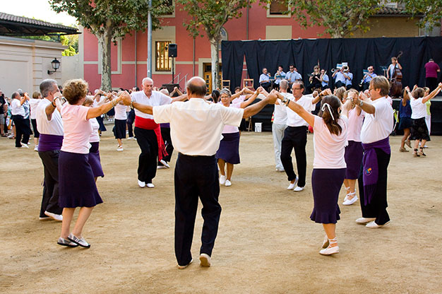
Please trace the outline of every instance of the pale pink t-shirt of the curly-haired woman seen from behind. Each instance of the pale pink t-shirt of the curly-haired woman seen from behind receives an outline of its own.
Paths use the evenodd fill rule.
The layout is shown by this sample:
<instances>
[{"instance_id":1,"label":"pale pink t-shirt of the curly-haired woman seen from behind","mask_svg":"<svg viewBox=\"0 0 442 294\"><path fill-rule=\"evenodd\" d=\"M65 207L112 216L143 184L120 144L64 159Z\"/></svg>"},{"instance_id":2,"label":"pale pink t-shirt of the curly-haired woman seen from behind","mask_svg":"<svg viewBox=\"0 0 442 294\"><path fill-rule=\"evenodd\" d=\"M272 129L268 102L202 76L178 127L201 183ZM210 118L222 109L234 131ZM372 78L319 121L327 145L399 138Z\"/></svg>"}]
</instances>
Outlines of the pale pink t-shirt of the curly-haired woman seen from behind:
<instances>
[{"instance_id":1,"label":"pale pink t-shirt of the curly-haired woman seen from behind","mask_svg":"<svg viewBox=\"0 0 442 294\"><path fill-rule=\"evenodd\" d=\"M61 108L64 126L64 139L61 151L81 154L89 153L89 138L90 134L92 134L92 125L90 120L86 118L89 109L90 107L70 105L68 103Z\"/></svg>"}]
</instances>

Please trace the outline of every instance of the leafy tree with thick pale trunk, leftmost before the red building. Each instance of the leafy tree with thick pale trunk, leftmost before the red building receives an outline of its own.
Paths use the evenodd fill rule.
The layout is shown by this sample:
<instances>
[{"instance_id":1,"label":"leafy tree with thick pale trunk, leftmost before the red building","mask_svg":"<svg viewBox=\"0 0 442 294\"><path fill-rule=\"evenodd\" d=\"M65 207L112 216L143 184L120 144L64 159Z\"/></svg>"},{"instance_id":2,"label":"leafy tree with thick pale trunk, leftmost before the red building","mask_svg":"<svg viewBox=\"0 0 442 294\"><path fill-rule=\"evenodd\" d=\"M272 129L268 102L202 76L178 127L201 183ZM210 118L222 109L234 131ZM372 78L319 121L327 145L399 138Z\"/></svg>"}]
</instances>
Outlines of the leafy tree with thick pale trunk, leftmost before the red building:
<instances>
[{"instance_id":1,"label":"leafy tree with thick pale trunk, leftmost before the red building","mask_svg":"<svg viewBox=\"0 0 442 294\"><path fill-rule=\"evenodd\" d=\"M169 12L172 8L167 0L49 0L56 12L66 11L75 17L80 25L87 28L98 39L102 49L102 79L103 90L111 90L111 44L117 37L124 37L135 30L145 30L148 27L148 12L152 13L153 29L158 28L158 17Z\"/></svg>"}]
</instances>

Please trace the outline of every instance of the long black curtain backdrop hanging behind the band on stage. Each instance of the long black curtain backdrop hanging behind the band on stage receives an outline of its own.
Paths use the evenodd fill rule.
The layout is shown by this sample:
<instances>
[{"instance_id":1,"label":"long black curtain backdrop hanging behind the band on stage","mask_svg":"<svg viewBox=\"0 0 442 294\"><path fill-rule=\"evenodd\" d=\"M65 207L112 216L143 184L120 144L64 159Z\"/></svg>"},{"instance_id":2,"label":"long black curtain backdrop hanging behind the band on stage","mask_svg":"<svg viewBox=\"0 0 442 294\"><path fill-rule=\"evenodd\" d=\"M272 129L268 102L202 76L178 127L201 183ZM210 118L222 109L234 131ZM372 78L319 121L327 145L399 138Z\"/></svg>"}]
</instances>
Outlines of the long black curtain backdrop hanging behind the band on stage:
<instances>
[{"instance_id":1,"label":"long black curtain backdrop hanging behind the band on stage","mask_svg":"<svg viewBox=\"0 0 442 294\"><path fill-rule=\"evenodd\" d=\"M327 71L330 86L333 86L331 69L336 64L347 62L353 73L353 86L359 85L364 76L362 70L374 66L378 75L383 75L381 66L390 65L391 57L403 52L402 85L425 86L424 64L433 58L442 68L442 37L379 37L360 39L316 39L281 41L222 41L222 76L230 80L231 88L241 85L241 75L246 58L249 77L253 85L259 85L263 67L274 75L277 66L288 71L294 64L308 85L308 73L319 64Z\"/></svg>"}]
</instances>

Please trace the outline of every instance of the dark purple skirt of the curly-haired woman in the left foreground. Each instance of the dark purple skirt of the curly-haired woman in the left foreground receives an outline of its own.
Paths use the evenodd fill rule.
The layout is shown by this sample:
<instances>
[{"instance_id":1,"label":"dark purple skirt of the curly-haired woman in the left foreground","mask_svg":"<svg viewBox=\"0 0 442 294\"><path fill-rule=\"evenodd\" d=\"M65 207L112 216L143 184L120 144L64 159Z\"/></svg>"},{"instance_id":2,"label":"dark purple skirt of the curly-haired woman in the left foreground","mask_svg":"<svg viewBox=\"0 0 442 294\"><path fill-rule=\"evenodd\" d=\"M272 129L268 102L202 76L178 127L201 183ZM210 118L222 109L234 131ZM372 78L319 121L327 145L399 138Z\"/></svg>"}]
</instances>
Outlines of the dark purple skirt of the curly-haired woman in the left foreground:
<instances>
[{"instance_id":1,"label":"dark purple skirt of the curly-haired woman in the left foreground","mask_svg":"<svg viewBox=\"0 0 442 294\"><path fill-rule=\"evenodd\" d=\"M60 151L60 207L93 207L103 202L98 194L88 157L88 154Z\"/></svg>"}]
</instances>

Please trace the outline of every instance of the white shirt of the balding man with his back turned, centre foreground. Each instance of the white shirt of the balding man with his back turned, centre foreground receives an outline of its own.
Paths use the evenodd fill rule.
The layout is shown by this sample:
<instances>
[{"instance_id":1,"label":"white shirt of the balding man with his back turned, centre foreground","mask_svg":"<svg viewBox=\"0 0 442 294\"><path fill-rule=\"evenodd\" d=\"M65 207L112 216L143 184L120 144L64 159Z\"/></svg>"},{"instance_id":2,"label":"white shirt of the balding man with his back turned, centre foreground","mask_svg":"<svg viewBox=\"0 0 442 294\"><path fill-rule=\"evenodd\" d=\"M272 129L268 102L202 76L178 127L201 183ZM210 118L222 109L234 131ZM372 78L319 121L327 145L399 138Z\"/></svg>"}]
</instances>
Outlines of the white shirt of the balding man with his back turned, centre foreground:
<instances>
[{"instance_id":1,"label":"white shirt of the balding man with his back turned, centre foreground","mask_svg":"<svg viewBox=\"0 0 442 294\"><path fill-rule=\"evenodd\" d=\"M243 115L242 108L208 103L202 98L153 107L155 122L170 122L174 148L186 155L214 155L225 124L239 127Z\"/></svg>"}]
</instances>

